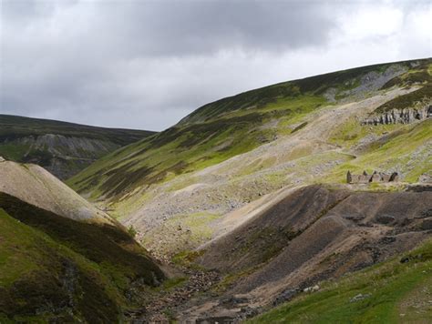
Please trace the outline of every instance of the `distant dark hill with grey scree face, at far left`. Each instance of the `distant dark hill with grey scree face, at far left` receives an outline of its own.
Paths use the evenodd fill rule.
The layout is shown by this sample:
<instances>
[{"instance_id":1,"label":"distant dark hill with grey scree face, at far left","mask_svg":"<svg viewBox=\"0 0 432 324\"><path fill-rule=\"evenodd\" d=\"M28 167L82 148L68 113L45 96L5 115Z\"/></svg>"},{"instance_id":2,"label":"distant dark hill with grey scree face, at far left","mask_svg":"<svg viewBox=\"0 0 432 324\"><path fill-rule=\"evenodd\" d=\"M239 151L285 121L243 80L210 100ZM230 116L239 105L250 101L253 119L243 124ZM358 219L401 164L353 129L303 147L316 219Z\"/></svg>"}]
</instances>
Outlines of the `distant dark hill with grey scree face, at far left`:
<instances>
[{"instance_id":1,"label":"distant dark hill with grey scree face, at far left","mask_svg":"<svg viewBox=\"0 0 432 324\"><path fill-rule=\"evenodd\" d=\"M67 179L118 147L153 134L143 130L0 115L0 156L16 162L35 163L57 177Z\"/></svg>"}]
</instances>

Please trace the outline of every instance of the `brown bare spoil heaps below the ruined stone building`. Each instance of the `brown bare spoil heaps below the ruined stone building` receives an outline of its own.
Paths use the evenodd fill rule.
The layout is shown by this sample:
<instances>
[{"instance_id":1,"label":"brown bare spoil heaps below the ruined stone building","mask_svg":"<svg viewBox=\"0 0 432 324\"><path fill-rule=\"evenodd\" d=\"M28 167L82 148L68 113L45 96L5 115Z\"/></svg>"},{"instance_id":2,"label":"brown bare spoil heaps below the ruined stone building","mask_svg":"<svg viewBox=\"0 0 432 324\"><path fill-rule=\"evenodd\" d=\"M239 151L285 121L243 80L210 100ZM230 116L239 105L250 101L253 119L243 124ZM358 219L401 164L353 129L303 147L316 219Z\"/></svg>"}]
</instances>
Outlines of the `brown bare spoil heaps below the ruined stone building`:
<instances>
[{"instance_id":1,"label":"brown bare spoil heaps below the ruined stone building","mask_svg":"<svg viewBox=\"0 0 432 324\"><path fill-rule=\"evenodd\" d=\"M242 319L321 280L416 247L431 237L431 224L431 191L287 191L273 208L205 246L197 261L235 279L222 284L218 298L191 299L178 314L182 320Z\"/></svg>"}]
</instances>

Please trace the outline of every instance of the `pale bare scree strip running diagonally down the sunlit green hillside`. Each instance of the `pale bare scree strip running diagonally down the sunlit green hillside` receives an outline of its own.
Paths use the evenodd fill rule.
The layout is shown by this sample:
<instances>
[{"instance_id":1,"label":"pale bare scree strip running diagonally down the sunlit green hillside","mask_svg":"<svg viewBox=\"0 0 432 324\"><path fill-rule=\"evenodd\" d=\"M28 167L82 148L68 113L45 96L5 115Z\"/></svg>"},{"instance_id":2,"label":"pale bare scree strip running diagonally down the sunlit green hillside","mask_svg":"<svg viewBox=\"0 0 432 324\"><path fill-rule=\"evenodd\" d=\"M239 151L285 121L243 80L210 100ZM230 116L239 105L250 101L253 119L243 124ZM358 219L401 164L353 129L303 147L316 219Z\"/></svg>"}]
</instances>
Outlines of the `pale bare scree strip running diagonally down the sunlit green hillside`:
<instances>
[{"instance_id":1,"label":"pale bare scree strip running diagonally down the sunlit green hillside","mask_svg":"<svg viewBox=\"0 0 432 324\"><path fill-rule=\"evenodd\" d=\"M135 190L116 206L124 215L121 221L138 228L139 238L152 238L145 240L146 247L159 257L179 252L181 244L161 246L157 233L168 230L182 242L189 240L193 228L183 226L183 232L164 228L167 220L202 212L220 217L231 211L240 219L247 213L239 208L247 210L249 203L266 194L319 181L334 167L355 157L355 151L344 150L328 140L334 128L353 116L361 120L377 106L413 90L396 89L360 102L324 107L306 116L304 122L308 124L290 136L201 171ZM224 226L212 220L212 237L219 235Z\"/></svg>"}]
</instances>

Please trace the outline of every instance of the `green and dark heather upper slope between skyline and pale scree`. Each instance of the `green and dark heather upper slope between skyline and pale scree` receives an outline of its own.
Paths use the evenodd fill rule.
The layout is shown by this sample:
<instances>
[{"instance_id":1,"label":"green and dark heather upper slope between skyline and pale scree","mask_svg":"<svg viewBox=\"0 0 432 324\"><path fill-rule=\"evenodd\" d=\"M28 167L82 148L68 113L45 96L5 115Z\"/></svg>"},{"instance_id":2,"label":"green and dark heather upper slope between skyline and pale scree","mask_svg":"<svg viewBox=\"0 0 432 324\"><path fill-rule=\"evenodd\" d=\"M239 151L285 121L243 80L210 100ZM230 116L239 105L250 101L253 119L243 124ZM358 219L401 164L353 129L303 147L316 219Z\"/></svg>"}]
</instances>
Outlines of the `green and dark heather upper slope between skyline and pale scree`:
<instances>
[{"instance_id":1,"label":"green and dark heather upper slope between skyline and pale scree","mask_svg":"<svg viewBox=\"0 0 432 324\"><path fill-rule=\"evenodd\" d=\"M407 74L424 72L410 62L365 66L266 86L231 96L197 109L174 127L103 157L68 184L90 197L116 202L135 189L180 174L210 167L250 151L303 126L304 116L337 100L364 98L397 78L398 86L412 85ZM428 75L428 74L427 74ZM382 81L364 85L366 76Z\"/></svg>"}]
</instances>

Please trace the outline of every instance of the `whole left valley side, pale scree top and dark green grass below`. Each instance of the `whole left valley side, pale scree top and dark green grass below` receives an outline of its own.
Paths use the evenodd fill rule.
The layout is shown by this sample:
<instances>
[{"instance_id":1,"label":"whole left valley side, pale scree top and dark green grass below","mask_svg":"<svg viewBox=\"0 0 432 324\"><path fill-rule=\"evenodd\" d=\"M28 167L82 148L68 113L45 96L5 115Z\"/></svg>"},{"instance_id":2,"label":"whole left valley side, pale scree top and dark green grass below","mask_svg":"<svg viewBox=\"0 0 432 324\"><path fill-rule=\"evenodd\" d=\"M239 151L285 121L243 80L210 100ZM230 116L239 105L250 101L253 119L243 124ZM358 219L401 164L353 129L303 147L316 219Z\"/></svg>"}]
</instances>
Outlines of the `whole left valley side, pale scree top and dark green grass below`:
<instances>
[{"instance_id":1,"label":"whole left valley side, pale scree top and dark green grass below","mask_svg":"<svg viewBox=\"0 0 432 324\"><path fill-rule=\"evenodd\" d=\"M126 228L44 168L0 161L0 322L123 322L166 278Z\"/></svg>"}]
</instances>

